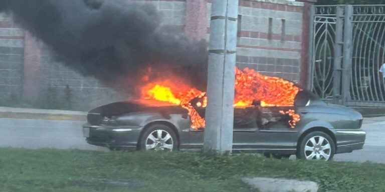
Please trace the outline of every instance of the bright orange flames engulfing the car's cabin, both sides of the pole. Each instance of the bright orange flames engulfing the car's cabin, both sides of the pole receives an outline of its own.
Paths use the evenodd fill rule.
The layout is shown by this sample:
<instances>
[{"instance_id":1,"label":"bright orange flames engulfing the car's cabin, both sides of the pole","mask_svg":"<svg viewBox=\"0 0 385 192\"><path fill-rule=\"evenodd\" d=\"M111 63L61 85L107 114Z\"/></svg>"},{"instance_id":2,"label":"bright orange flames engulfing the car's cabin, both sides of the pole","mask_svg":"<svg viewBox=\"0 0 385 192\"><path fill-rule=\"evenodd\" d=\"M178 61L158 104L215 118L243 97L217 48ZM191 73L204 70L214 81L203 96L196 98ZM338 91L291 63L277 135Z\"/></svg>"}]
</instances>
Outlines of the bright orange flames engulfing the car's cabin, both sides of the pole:
<instances>
[{"instance_id":1,"label":"bright orange flames engulfing the car's cabin, both sides of the pole","mask_svg":"<svg viewBox=\"0 0 385 192\"><path fill-rule=\"evenodd\" d=\"M196 88L185 88L185 86L175 87L148 84L142 88L142 94L146 99L168 101L175 105L181 105L187 109L188 115L191 117L191 128L205 127L205 119L198 114L189 101L196 97L203 97L203 103L198 102L197 105L206 107L206 92ZM294 97L298 91L299 88L294 86L292 82L279 77L265 76L254 69L240 70L236 68L234 107L250 106L253 100L259 100L261 106L293 106ZM292 120L289 120L291 127L294 127L295 123L300 120L299 115L292 109L280 111L280 113L292 117Z\"/></svg>"}]
</instances>

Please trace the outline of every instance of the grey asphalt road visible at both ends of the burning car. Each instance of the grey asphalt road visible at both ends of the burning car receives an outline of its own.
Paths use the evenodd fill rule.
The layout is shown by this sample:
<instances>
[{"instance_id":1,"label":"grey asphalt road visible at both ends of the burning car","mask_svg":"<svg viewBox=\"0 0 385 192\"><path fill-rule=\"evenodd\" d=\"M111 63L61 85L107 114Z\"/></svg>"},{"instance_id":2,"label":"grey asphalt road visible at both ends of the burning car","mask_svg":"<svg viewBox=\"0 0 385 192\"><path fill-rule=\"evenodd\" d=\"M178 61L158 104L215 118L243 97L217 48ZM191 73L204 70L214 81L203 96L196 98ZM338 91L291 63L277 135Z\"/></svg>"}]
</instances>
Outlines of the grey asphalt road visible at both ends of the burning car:
<instances>
[{"instance_id":1,"label":"grey asphalt road visible at both ends of the burning car","mask_svg":"<svg viewBox=\"0 0 385 192\"><path fill-rule=\"evenodd\" d=\"M84 122L0 118L0 147L108 150L85 141L82 130ZM334 160L385 163L385 121L363 124L362 129L366 131L363 149L335 154Z\"/></svg>"}]
</instances>

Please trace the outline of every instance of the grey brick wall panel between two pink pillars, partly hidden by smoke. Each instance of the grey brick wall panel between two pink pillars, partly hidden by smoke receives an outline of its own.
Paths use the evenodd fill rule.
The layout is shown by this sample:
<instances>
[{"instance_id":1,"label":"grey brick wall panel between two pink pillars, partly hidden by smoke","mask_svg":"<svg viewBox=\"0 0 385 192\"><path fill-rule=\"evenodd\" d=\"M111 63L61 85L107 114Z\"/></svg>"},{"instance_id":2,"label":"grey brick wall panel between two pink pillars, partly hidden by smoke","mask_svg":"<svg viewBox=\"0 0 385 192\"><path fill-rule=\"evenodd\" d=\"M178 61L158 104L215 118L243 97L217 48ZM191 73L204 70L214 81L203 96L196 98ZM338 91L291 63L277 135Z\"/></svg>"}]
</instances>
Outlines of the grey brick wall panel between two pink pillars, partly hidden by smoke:
<instances>
[{"instance_id":1,"label":"grey brick wall panel between two pink pillars, partly hidden by smoke","mask_svg":"<svg viewBox=\"0 0 385 192\"><path fill-rule=\"evenodd\" d=\"M183 0L148 0L160 12L162 24L182 29L185 22ZM93 77L85 77L55 59L49 47L42 47L40 91L43 100L57 100L58 105L87 110L108 102L128 99ZM51 104L54 105L54 104Z\"/></svg>"}]
</instances>

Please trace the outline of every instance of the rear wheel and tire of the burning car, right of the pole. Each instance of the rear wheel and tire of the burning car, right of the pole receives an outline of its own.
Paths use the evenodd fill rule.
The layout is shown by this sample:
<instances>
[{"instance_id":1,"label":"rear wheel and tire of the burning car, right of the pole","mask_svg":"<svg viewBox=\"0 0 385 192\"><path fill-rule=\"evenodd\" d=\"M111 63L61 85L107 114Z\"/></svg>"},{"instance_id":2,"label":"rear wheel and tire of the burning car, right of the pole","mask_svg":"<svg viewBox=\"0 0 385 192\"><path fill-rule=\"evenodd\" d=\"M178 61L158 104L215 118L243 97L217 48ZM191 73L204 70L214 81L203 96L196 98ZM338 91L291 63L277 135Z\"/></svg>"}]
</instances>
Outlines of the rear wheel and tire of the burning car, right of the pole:
<instances>
[{"instance_id":1,"label":"rear wheel and tire of the burning car, right of the pole","mask_svg":"<svg viewBox=\"0 0 385 192\"><path fill-rule=\"evenodd\" d=\"M333 139L325 132L314 131L303 137L296 155L300 159L331 160L334 153Z\"/></svg>"}]
</instances>

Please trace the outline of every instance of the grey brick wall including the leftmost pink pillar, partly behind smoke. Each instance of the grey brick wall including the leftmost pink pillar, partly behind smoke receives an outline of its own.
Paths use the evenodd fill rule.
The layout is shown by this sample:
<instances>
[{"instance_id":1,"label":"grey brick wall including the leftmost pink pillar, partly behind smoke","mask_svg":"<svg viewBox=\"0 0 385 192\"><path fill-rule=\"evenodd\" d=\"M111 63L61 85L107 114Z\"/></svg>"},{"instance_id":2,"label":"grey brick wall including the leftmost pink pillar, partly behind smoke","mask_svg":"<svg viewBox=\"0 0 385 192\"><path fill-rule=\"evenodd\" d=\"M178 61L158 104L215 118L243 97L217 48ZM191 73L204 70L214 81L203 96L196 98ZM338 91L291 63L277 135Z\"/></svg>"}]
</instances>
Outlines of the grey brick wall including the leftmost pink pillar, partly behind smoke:
<instances>
[{"instance_id":1,"label":"grey brick wall including the leftmost pink pillar, partly behind smoke","mask_svg":"<svg viewBox=\"0 0 385 192\"><path fill-rule=\"evenodd\" d=\"M184 29L185 0L147 1L159 10L163 25ZM88 110L130 97L61 64L50 48L41 42L35 42L41 49L39 63L25 62L24 53L33 52L25 47L25 33L23 28L15 25L10 15L0 14L0 99L18 97L18 100L32 100L33 104L43 107ZM36 67L39 71L32 72L31 69ZM37 95L33 95L35 93Z\"/></svg>"}]
</instances>

